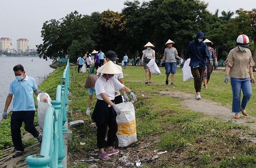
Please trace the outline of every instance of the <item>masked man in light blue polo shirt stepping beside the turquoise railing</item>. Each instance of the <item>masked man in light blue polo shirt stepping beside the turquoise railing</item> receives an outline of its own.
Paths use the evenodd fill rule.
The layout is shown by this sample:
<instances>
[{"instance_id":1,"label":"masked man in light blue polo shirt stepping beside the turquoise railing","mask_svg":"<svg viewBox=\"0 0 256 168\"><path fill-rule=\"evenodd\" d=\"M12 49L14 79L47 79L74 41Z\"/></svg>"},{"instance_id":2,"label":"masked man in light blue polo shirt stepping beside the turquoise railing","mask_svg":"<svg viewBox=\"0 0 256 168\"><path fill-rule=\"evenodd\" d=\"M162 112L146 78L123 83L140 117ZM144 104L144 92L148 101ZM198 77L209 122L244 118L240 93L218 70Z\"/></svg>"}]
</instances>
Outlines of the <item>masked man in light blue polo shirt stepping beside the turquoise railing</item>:
<instances>
[{"instance_id":1,"label":"masked man in light blue polo shirt stepping beside the turquoise railing","mask_svg":"<svg viewBox=\"0 0 256 168\"><path fill-rule=\"evenodd\" d=\"M16 79L11 81L9 94L6 98L2 116L3 119L7 118L7 109L10 106L12 97L14 95L12 102L13 109L11 114L11 138L13 146L16 148L16 152L12 157L16 158L25 152L20 134L22 122L25 124L25 130L37 138L40 143L42 143L42 135L34 126L36 109L33 92L37 95L44 92L37 89L35 79L25 74L24 68L21 64L14 66L13 71Z\"/></svg>"}]
</instances>

